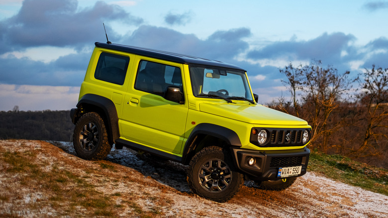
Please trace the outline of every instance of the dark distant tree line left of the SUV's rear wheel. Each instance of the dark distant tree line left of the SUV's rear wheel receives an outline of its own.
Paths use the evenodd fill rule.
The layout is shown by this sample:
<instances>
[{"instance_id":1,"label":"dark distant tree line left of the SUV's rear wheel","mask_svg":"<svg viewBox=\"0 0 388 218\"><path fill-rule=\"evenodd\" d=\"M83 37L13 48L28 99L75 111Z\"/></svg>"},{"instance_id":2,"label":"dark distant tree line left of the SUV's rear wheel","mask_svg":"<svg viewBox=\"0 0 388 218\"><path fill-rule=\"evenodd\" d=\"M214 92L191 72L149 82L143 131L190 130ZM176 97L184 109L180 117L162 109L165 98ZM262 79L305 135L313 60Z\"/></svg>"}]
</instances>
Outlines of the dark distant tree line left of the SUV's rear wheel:
<instances>
[{"instance_id":1,"label":"dark distant tree line left of the SUV's rear wheel","mask_svg":"<svg viewBox=\"0 0 388 218\"><path fill-rule=\"evenodd\" d=\"M69 110L0 111L0 139L71 141L73 130Z\"/></svg>"}]
</instances>

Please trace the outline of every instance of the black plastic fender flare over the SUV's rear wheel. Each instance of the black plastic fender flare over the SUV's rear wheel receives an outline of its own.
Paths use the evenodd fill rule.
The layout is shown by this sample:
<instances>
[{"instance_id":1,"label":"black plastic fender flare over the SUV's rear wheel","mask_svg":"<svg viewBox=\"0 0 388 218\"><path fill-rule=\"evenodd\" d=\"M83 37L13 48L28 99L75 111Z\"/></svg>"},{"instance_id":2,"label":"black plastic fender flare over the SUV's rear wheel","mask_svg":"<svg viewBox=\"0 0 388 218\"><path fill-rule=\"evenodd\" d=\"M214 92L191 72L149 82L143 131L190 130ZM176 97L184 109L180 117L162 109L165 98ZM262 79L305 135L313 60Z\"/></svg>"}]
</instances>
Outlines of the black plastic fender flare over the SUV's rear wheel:
<instances>
[{"instance_id":1,"label":"black plastic fender flare over the SUV's rear wheel","mask_svg":"<svg viewBox=\"0 0 388 218\"><path fill-rule=\"evenodd\" d=\"M110 99L95 94L86 94L78 102L77 108L86 109L86 112L98 111L104 113L102 115L106 118L108 132L111 132L111 134L108 133L111 142L115 143L115 140L120 138L117 110Z\"/></svg>"}]
</instances>

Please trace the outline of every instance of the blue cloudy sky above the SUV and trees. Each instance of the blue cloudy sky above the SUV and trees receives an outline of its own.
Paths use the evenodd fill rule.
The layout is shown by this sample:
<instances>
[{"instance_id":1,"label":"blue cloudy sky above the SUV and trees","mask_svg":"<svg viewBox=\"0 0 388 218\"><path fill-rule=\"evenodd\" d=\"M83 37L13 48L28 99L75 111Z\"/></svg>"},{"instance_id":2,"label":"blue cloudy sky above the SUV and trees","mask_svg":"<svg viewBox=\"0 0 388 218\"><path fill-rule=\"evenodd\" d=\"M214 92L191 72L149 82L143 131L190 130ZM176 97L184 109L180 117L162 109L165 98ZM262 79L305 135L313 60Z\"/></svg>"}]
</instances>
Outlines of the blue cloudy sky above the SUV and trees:
<instances>
[{"instance_id":1,"label":"blue cloudy sky above the SUV and trees","mask_svg":"<svg viewBox=\"0 0 388 218\"><path fill-rule=\"evenodd\" d=\"M387 22L388 0L0 0L0 110L75 108L102 23L112 43L242 67L267 104L290 63L388 68Z\"/></svg>"}]
</instances>

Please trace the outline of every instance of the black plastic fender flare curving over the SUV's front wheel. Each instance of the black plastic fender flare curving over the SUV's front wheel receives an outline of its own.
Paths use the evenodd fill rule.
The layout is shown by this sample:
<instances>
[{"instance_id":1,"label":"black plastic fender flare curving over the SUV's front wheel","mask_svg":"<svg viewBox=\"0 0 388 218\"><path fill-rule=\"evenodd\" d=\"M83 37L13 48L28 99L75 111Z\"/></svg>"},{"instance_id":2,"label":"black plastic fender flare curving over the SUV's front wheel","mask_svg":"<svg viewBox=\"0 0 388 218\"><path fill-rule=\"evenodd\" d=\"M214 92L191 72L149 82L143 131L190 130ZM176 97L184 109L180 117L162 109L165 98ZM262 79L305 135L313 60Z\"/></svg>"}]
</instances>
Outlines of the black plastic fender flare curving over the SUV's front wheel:
<instances>
[{"instance_id":1,"label":"black plastic fender flare curving over the SUV's front wheel","mask_svg":"<svg viewBox=\"0 0 388 218\"><path fill-rule=\"evenodd\" d=\"M186 141L185 148L182 156L182 163L188 164L190 157L193 154L195 147L194 142L198 134L211 135L226 141L230 146L241 147L241 141L238 134L224 126L212 124L212 123L200 123L196 125L193 131L190 133L188 140Z\"/></svg>"}]
</instances>

